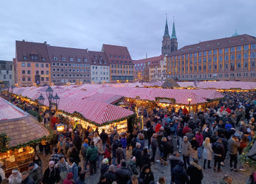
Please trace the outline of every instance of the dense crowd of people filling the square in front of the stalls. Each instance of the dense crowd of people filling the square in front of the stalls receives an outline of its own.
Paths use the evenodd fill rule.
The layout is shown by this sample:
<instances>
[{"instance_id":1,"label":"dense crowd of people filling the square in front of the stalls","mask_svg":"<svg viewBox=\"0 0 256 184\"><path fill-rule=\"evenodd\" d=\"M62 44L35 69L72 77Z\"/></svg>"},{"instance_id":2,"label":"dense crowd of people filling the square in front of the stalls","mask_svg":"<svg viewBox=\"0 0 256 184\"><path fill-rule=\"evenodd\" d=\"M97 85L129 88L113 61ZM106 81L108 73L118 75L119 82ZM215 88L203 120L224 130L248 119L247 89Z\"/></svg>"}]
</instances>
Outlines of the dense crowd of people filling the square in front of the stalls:
<instances>
[{"instance_id":1,"label":"dense crowd of people filling the square in front of the stalls","mask_svg":"<svg viewBox=\"0 0 256 184\"><path fill-rule=\"evenodd\" d=\"M217 106L206 110L140 108L146 130L138 125L133 132L114 129L109 135L105 130L82 129L76 122L65 122L63 141L56 131L51 142L42 140L28 171L20 173L14 168L9 183L85 183L85 177L97 173L98 183L166 183L164 177L154 177L152 164L170 165L171 183L176 184L200 184L204 170L221 173L225 165L230 171L246 171L243 163L238 168L238 155L255 136L256 92L223 95ZM53 130L56 123L64 121L61 115L52 118ZM43 123L48 121L44 113ZM129 149L132 155L128 157ZM50 154L45 171L40 154ZM232 178L224 176L220 183L231 184Z\"/></svg>"}]
</instances>

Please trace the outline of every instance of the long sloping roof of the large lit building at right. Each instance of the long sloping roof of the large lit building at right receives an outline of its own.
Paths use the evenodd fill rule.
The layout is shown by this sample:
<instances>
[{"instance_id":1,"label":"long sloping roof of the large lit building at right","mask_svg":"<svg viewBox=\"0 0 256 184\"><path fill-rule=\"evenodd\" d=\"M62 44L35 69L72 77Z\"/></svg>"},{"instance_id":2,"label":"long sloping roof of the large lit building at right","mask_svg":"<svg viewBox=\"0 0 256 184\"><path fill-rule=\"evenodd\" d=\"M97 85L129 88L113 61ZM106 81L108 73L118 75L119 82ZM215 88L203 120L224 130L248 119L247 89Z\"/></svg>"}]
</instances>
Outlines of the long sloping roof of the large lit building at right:
<instances>
[{"instance_id":1,"label":"long sloping roof of the large lit building at right","mask_svg":"<svg viewBox=\"0 0 256 184\"><path fill-rule=\"evenodd\" d=\"M229 38L220 38L216 40L208 40L205 42L199 42L193 45L187 45L177 50L176 52L171 53L172 55L176 54L187 54L191 52L200 52L203 50L214 50L223 47L230 47L235 45L245 45L251 42L256 43L256 38L251 35L238 35Z\"/></svg>"}]
</instances>

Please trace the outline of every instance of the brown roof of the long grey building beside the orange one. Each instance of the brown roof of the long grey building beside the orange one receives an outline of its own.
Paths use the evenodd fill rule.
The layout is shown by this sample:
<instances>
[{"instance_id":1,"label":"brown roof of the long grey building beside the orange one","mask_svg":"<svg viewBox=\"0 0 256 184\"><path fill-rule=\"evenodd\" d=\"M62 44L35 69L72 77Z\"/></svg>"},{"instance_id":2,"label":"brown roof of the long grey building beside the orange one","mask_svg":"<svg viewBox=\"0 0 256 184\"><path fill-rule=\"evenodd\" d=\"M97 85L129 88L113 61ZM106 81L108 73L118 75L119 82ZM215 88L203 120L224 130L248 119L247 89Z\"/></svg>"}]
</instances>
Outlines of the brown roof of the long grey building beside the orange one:
<instances>
[{"instance_id":1,"label":"brown roof of the long grey building beside the orange one","mask_svg":"<svg viewBox=\"0 0 256 184\"><path fill-rule=\"evenodd\" d=\"M85 49L76 49L70 47L55 47L55 46L48 46L47 47L50 61L54 61L54 57L58 57L58 60L55 62L61 62L62 57L65 57L65 62L70 62L70 57L73 58L73 62L77 62L77 59L80 58L80 63L85 63L85 58L90 60L89 54Z\"/></svg>"}]
</instances>

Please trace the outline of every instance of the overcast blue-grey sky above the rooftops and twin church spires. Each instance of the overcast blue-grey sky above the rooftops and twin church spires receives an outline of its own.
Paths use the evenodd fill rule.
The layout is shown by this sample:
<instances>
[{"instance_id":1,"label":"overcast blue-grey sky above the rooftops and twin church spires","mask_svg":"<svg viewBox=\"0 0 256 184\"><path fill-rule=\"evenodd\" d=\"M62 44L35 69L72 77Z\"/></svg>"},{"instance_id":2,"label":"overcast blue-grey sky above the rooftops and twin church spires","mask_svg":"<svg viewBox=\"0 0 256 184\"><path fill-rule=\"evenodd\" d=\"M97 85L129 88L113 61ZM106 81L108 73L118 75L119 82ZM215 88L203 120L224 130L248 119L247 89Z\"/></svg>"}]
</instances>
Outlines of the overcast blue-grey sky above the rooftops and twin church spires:
<instances>
[{"instance_id":1,"label":"overcast blue-grey sky above the rooftops and twin church spires","mask_svg":"<svg viewBox=\"0 0 256 184\"><path fill-rule=\"evenodd\" d=\"M178 48L239 34L256 36L255 0L7 0L0 2L0 60L15 40L100 51L127 46L132 59L161 54L166 13L175 16Z\"/></svg>"}]
</instances>

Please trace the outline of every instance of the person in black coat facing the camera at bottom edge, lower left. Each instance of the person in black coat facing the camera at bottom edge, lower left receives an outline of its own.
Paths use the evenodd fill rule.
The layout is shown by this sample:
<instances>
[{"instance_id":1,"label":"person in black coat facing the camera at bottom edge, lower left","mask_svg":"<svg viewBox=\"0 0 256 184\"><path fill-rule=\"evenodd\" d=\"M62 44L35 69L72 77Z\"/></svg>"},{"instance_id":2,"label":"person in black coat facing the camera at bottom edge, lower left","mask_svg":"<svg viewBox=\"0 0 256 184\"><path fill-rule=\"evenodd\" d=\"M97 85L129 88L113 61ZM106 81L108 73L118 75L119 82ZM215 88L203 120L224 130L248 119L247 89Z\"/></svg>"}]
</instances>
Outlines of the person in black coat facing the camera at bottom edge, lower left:
<instances>
[{"instance_id":1,"label":"person in black coat facing the camera at bottom edge, lower left","mask_svg":"<svg viewBox=\"0 0 256 184\"><path fill-rule=\"evenodd\" d=\"M54 161L49 162L49 167L43 173L43 184L53 184L60 181L60 172L58 168L55 168Z\"/></svg>"}]
</instances>

